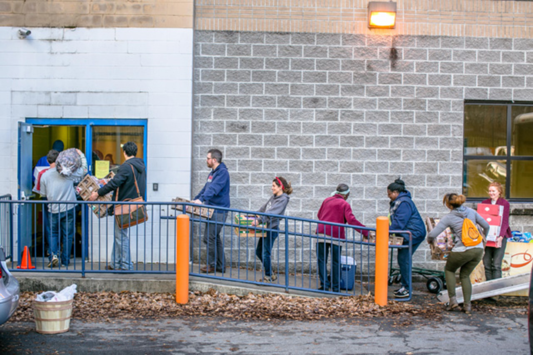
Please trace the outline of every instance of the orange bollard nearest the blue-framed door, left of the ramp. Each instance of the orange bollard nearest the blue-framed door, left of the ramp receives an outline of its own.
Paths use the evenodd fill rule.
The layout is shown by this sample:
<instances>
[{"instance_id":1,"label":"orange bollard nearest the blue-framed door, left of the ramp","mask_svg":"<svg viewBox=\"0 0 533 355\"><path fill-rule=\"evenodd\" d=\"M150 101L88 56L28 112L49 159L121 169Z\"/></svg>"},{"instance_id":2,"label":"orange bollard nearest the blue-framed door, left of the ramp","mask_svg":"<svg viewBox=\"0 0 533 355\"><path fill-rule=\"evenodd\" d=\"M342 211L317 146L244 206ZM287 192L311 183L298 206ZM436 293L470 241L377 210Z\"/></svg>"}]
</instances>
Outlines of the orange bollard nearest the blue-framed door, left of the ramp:
<instances>
[{"instance_id":1,"label":"orange bollard nearest the blue-framed door, left of the ramp","mask_svg":"<svg viewBox=\"0 0 533 355\"><path fill-rule=\"evenodd\" d=\"M189 216L176 217L176 302L189 302Z\"/></svg>"}]
</instances>

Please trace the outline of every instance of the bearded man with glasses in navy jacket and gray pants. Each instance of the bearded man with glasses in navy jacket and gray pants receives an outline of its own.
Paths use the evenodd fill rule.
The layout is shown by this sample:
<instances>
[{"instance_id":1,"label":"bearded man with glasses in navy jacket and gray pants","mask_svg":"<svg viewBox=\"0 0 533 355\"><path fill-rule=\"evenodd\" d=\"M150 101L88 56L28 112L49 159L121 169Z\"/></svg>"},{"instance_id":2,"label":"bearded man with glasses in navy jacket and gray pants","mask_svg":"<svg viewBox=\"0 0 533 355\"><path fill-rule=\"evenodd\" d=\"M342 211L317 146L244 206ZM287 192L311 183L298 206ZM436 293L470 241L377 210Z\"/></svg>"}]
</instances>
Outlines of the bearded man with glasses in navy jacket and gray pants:
<instances>
[{"instance_id":1,"label":"bearded man with glasses in navy jacket and gray pants","mask_svg":"<svg viewBox=\"0 0 533 355\"><path fill-rule=\"evenodd\" d=\"M204 188L195 196L193 202L211 206L230 207L230 174L222 163L222 152L210 149L207 152L207 167L212 168ZM207 263L201 272L225 272L224 244L220 239L220 231L228 217L228 211L215 209L209 217L204 234L207 244Z\"/></svg>"}]
</instances>

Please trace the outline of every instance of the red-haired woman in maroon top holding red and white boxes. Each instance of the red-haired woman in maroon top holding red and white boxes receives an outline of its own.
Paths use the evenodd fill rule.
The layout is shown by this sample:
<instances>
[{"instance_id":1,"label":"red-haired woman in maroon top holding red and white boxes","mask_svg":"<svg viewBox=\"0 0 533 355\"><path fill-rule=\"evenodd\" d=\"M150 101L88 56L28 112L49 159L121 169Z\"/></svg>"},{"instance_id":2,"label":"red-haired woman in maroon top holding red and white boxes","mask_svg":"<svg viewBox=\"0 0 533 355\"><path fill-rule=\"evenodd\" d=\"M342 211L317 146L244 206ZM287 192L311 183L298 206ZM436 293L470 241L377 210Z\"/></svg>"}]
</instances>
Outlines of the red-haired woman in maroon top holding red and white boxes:
<instances>
[{"instance_id":1,"label":"red-haired woman in maroon top holding red and white boxes","mask_svg":"<svg viewBox=\"0 0 533 355\"><path fill-rule=\"evenodd\" d=\"M484 200L483 204L492 204L503 206L502 229L496 239L496 246L485 247L483 255L483 265L485 267L485 276L488 280L499 279L502 277L502 260L507 245L507 238L511 238L511 228L509 227L509 210L510 206L507 200L502 197L503 188L499 182L492 182L489 185L489 197Z\"/></svg>"}]
</instances>

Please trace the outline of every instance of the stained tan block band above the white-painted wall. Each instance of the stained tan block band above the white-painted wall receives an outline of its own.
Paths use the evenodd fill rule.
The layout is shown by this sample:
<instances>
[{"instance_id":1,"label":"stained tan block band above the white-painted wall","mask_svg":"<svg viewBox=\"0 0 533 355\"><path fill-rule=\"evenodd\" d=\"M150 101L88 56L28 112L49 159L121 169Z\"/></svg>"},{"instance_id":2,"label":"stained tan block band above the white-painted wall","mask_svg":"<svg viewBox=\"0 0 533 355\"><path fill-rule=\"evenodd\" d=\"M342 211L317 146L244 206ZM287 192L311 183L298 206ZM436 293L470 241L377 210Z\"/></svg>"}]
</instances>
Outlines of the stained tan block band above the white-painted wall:
<instances>
[{"instance_id":1,"label":"stained tan block band above the white-painted wall","mask_svg":"<svg viewBox=\"0 0 533 355\"><path fill-rule=\"evenodd\" d=\"M192 28L192 0L0 0L0 26Z\"/></svg>"}]
</instances>

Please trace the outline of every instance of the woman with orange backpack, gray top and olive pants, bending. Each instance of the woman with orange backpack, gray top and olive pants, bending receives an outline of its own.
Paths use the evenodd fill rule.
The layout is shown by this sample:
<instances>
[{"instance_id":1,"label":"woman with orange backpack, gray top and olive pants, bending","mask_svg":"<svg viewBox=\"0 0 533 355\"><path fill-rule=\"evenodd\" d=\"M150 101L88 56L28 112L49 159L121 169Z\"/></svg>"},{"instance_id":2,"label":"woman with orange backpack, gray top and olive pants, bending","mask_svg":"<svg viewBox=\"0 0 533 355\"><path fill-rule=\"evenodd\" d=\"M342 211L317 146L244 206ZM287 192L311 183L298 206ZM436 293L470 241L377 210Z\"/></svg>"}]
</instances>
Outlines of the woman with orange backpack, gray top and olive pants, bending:
<instances>
[{"instance_id":1,"label":"woman with orange backpack, gray top and olive pants, bending","mask_svg":"<svg viewBox=\"0 0 533 355\"><path fill-rule=\"evenodd\" d=\"M447 193L444 196L442 203L451 211L427 234L427 241L431 243L446 228L451 229L454 235L454 247L448 255L445 267L446 286L450 297L446 310L451 311L459 306L455 296L455 272L461 269L459 279L463 288L463 312L470 314L472 312L470 274L481 261L484 247L484 236L481 236L475 228L475 223L483 228L485 236L489 231L489 224L472 208L463 206L465 200L464 195L457 195L457 193Z\"/></svg>"}]
</instances>

